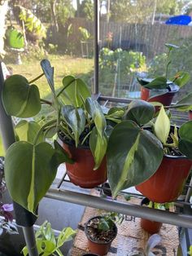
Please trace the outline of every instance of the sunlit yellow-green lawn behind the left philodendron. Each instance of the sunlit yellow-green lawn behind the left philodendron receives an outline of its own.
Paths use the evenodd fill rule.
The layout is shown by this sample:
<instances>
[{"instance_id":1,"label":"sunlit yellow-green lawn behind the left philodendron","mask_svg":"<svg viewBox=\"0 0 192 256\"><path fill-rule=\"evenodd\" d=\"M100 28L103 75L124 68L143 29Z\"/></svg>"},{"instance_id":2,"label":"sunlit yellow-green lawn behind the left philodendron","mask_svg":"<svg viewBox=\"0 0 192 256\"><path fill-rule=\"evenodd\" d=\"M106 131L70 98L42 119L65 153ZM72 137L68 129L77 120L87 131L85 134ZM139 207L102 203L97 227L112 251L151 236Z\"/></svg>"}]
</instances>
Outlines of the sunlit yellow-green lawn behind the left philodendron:
<instances>
[{"instance_id":1,"label":"sunlit yellow-green lawn behind the left philodendron","mask_svg":"<svg viewBox=\"0 0 192 256\"><path fill-rule=\"evenodd\" d=\"M62 79L66 75L74 75L81 77L85 82L91 86L91 77L94 74L94 60L73 58L68 55L49 55L51 65L55 68L55 89L59 90L62 86ZM39 60L25 60L21 65L7 64L13 70L13 73L21 74L31 81L42 73ZM41 77L35 84L40 90L41 98L48 98L50 95L50 88L47 85L46 78Z\"/></svg>"}]
</instances>

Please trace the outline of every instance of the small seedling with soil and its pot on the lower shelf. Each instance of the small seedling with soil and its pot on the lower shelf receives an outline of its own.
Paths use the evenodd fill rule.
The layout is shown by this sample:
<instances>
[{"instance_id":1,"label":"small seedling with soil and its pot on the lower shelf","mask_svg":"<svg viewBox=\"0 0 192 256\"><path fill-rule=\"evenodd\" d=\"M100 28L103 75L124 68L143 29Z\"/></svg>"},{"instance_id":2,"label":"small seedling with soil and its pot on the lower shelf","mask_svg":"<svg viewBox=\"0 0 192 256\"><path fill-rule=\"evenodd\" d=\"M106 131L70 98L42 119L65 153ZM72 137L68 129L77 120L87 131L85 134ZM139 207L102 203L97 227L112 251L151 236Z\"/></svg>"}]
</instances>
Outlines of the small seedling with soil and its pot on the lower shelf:
<instances>
[{"instance_id":1,"label":"small seedling with soil and its pot on the lower shelf","mask_svg":"<svg viewBox=\"0 0 192 256\"><path fill-rule=\"evenodd\" d=\"M116 238L117 227L116 213L104 214L103 216L95 216L89 218L85 223L85 235L88 239L89 251L98 255L107 254L111 247L111 242Z\"/></svg>"}]
</instances>

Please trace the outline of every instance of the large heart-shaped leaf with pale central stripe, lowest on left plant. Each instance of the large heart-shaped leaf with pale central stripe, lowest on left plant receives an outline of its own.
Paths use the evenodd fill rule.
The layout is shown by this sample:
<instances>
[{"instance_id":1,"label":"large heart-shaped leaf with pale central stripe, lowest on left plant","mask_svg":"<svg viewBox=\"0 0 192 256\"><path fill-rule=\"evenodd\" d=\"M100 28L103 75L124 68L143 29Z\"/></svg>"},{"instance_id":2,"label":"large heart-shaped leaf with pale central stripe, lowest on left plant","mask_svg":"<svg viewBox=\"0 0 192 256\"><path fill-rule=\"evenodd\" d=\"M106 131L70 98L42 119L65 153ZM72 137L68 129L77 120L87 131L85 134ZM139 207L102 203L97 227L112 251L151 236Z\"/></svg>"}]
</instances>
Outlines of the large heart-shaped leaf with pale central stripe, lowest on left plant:
<instances>
[{"instance_id":1,"label":"large heart-shaped leaf with pale central stripe, lowest on left plant","mask_svg":"<svg viewBox=\"0 0 192 256\"><path fill-rule=\"evenodd\" d=\"M55 151L49 143L36 146L23 141L13 143L5 160L7 188L13 201L35 214L63 161L63 154Z\"/></svg>"}]
</instances>

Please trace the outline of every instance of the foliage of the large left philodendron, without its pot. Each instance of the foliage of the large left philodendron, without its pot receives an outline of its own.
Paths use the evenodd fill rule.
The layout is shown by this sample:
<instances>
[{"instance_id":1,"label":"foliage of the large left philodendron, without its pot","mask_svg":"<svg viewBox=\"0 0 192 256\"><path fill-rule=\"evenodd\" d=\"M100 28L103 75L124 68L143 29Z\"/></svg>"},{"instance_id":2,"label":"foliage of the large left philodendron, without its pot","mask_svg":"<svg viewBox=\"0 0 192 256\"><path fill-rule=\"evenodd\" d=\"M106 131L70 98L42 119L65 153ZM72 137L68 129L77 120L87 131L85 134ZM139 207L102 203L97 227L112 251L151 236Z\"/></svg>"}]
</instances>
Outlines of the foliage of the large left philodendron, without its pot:
<instances>
[{"instance_id":1,"label":"foliage of the large left philodendron, without its pot","mask_svg":"<svg viewBox=\"0 0 192 256\"><path fill-rule=\"evenodd\" d=\"M97 171L107 150L107 137L112 126L120 121L124 111L112 108L104 116L98 102L91 98L88 87L79 78L63 77L63 86L57 92L54 83L54 68L48 60L41 61L43 73L28 82L21 75L8 77L2 89L2 102L6 112L15 117L36 116L41 104L48 104L55 111L54 117L40 126L35 121L21 120L15 126L19 141L7 150L5 176L12 199L33 214L55 179L57 168L62 162L73 160L55 140L54 145L46 139L62 131L76 147L86 143L91 149ZM52 101L41 99L34 84L45 75ZM107 125L107 120L111 125Z\"/></svg>"}]
</instances>

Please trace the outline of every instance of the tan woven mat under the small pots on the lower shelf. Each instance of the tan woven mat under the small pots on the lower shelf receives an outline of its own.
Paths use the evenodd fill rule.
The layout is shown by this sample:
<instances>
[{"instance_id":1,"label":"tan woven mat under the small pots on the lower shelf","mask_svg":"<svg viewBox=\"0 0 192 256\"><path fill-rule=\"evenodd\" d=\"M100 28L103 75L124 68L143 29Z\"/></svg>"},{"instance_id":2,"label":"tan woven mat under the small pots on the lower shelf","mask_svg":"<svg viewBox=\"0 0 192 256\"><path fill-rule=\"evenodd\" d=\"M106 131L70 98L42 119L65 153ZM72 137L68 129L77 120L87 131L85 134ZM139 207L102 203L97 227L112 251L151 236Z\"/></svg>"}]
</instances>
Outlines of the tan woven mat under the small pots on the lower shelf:
<instances>
[{"instance_id":1,"label":"tan woven mat under the small pots on the lower shelf","mask_svg":"<svg viewBox=\"0 0 192 256\"><path fill-rule=\"evenodd\" d=\"M99 192L92 190L91 194L99 196ZM124 201L124 197L119 196L118 201ZM131 198L130 203L139 204L141 199ZM103 213L104 211L102 211ZM86 207L81 224L85 224L89 218L101 214L101 210ZM132 216L125 216L123 223L117 224L118 234L116 239L111 244L111 249L107 256L129 256L134 249L145 249L146 241L151 236L148 232L145 232L140 227L140 218ZM169 224L163 224L160 229L159 235L162 237L162 241L152 251L158 256L175 256L177 247L179 245L178 231L176 226ZM78 230L74 246L72 248L72 256L81 256L81 254L88 252L87 238L85 232Z\"/></svg>"}]
</instances>

